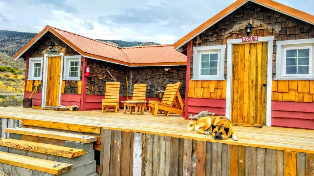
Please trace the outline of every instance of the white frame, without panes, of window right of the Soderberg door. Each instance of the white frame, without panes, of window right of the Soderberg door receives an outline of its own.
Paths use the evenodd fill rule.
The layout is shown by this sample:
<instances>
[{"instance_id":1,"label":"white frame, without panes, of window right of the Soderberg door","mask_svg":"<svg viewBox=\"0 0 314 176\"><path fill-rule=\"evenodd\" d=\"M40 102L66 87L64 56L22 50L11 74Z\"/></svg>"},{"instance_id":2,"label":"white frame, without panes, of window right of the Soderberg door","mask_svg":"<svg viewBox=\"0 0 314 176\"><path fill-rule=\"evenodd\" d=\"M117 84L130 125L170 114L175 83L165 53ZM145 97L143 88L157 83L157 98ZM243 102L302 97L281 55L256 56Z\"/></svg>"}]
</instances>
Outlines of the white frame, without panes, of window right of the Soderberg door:
<instances>
[{"instance_id":1,"label":"white frame, without panes, of window right of the Soderberg door","mask_svg":"<svg viewBox=\"0 0 314 176\"><path fill-rule=\"evenodd\" d=\"M63 80L81 80L81 58L82 55L76 56L64 56L64 71L63 71ZM78 62L78 76L70 77L70 62L77 61Z\"/></svg>"}]
</instances>

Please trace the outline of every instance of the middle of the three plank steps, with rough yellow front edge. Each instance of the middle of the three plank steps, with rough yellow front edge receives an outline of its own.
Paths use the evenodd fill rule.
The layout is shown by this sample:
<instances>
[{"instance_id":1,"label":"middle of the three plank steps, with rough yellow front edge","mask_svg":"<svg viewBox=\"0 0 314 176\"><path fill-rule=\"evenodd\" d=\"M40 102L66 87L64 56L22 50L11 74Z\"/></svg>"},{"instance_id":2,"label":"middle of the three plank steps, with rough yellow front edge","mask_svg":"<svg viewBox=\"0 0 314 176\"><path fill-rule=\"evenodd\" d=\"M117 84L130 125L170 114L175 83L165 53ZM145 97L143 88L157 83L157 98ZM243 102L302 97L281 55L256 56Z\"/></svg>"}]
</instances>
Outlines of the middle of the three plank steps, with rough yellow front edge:
<instances>
[{"instance_id":1,"label":"middle of the three plank steps, with rough yellow front edge","mask_svg":"<svg viewBox=\"0 0 314 176\"><path fill-rule=\"evenodd\" d=\"M51 144L44 144L40 142L30 142L30 141L22 141L17 139L5 139L2 138L0 140L1 146L18 148L22 150L28 150L38 153L46 153L56 156L61 156L65 158L75 158L81 155L84 155L85 151L82 149L75 149L69 147L62 147Z\"/></svg>"}]
</instances>

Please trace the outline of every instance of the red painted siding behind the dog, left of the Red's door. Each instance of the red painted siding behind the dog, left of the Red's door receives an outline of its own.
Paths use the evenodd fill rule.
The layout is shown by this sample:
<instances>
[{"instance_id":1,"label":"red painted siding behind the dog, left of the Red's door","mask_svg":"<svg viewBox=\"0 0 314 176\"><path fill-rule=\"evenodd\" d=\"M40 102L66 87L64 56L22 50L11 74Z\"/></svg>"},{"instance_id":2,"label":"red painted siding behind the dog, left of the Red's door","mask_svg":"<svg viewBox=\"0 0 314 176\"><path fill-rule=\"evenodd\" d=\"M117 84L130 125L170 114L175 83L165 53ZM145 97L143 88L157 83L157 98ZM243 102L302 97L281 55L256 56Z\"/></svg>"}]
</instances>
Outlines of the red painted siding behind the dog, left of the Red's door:
<instances>
[{"instance_id":1,"label":"red painted siding behind the dog, left of the Red's door","mask_svg":"<svg viewBox=\"0 0 314 176\"><path fill-rule=\"evenodd\" d=\"M206 98L189 98L187 115L192 116L200 113L201 111L214 112L216 115L225 115L226 113L226 100L222 99L206 99ZM185 119L188 119L188 116Z\"/></svg>"}]
</instances>

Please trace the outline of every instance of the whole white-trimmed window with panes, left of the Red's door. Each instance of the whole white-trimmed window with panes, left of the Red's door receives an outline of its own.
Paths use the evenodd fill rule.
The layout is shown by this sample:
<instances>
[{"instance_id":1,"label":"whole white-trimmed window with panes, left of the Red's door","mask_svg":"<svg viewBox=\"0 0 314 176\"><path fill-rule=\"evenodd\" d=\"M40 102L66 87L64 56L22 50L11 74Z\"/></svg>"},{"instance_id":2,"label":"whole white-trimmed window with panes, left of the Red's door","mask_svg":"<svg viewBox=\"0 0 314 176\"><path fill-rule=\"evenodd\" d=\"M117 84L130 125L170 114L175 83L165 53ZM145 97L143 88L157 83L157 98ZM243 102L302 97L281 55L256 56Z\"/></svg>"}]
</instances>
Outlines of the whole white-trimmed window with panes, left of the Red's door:
<instances>
[{"instance_id":1,"label":"whole white-trimmed window with panes, left of the Red's door","mask_svg":"<svg viewBox=\"0 0 314 176\"><path fill-rule=\"evenodd\" d=\"M226 45L193 47L193 80L224 80Z\"/></svg>"}]
</instances>

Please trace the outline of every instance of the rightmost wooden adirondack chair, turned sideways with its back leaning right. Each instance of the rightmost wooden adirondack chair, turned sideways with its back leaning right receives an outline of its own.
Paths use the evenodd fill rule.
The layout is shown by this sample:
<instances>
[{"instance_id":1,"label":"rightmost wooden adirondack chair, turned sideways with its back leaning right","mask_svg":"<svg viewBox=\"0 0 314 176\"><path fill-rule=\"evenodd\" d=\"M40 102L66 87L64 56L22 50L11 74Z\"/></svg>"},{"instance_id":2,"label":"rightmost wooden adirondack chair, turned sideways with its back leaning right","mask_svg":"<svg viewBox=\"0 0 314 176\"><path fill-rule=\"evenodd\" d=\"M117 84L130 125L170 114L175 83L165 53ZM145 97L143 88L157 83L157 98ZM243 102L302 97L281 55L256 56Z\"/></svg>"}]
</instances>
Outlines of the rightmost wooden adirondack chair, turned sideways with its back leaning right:
<instances>
[{"instance_id":1,"label":"rightmost wooden adirondack chair, turned sideways with its back leaning right","mask_svg":"<svg viewBox=\"0 0 314 176\"><path fill-rule=\"evenodd\" d=\"M154 116L157 116L159 110L165 111L166 116L169 116L170 112L183 115L184 104L179 93L181 84L181 82L168 84L161 102L151 102L151 113L154 113ZM176 104L176 107L173 107L174 103Z\"/></svg>"}]
</instances>

